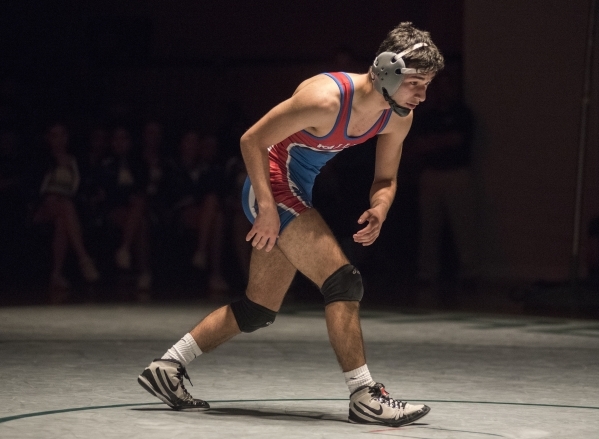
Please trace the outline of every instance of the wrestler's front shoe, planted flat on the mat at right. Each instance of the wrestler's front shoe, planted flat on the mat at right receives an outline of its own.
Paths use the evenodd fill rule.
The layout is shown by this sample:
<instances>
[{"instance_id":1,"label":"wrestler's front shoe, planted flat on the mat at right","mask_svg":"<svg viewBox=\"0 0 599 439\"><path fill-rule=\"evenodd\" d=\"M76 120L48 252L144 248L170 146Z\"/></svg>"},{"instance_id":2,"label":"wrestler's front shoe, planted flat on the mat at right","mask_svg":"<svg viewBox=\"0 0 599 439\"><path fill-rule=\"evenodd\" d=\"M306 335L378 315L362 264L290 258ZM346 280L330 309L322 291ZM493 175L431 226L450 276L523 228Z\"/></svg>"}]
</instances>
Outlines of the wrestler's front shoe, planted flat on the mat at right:
<instances>
[{"instance_id":1,"label":"wrestler's front shoe, planted flat on the mat at right","mask_svg":"<svg viewBox=\"0 0 599 439\"><path fill-rule=\"evenodd\" d=\"M430 407L408 404L389 396L385 386L362 386L349 397L349 418L352 424L382 424L399 427L422 418Z\"/></svg>"}]
</instances>

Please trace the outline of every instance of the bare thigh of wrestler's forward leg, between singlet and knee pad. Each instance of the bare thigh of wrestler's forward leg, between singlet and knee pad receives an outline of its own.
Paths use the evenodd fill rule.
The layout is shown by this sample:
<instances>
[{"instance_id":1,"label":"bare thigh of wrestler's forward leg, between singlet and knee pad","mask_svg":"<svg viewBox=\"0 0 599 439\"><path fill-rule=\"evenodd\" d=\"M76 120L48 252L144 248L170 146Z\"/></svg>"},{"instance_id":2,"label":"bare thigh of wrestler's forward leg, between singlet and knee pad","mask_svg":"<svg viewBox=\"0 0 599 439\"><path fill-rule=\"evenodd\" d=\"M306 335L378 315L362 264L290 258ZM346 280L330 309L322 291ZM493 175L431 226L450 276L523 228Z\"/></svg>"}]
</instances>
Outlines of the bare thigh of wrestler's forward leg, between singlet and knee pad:
<instances>
[{"instance_id":1,"label":"bare thigh of wrestler's forward leg, between singlet and knee pad","mask_svg":"<svg viewBox=\"0 0 599 439\"><path fill-rule=\"evenodd\" d=\"M302 212L277 241L289 262L319 288L338 268L349 264L333 232L315 209Z\"/></svg>"}]
</instances>

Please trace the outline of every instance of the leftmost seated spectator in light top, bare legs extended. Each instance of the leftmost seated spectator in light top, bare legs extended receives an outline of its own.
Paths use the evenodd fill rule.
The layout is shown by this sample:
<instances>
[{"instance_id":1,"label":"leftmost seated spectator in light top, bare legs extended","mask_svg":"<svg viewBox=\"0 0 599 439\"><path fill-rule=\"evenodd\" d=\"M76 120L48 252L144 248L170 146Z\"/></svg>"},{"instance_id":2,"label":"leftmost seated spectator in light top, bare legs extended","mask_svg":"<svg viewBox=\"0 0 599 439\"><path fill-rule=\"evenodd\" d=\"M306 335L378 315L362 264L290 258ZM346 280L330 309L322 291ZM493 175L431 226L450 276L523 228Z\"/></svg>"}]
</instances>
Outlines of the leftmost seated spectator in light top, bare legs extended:
<instances>
[{"instance_id":1,"label":"leftmost seated spectator in light top, bare legs extended","mask_svg":"<svg viewBox=\"0 0 599 439\"><path fill-rule=\"evenodd\" d=\"M34 223L51 222L54 226L52 243L53 263L51 286L55 287L54 301L66 298L58 293L69 287L63 277L63 267L70 246L79 261L81 274L88 282L99 278L98 270L83 243L79 217L75 209L74 197L79 189L79 168L77 160L68 151L69 132L61 123L49 126L45 142L50 149L51 163L44 174L40 188L41 204L34 213Z\"/></svg>"}]
</instances>

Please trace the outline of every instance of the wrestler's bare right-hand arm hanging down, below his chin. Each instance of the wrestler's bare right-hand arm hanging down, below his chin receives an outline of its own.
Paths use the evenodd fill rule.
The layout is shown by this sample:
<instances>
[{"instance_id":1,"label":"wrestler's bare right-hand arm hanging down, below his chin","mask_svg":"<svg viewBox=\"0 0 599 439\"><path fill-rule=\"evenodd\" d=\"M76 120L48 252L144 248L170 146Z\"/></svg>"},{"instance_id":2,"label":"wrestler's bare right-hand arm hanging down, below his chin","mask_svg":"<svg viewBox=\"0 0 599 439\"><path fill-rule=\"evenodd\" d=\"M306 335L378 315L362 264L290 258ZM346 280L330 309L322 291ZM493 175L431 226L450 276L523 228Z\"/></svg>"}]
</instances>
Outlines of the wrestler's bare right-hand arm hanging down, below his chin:
<instances>
[{"instance_id":1,"label":"wrestler's bare right-hand arm hanging down, below his chin","mask_svg":"<svg viewBox=\"0 0 599 439\"><path fill-rule=\"evenodd\" d=\"M370 245L381 233L381 227L395 198L403 141L411 124L412 114L405 118L393 115L385 130L378 136L374 181L370 188L370 209L358 219L359 224L366 226L354 234L353 238L357 243Z\"/></svg>"}]
</instances>

